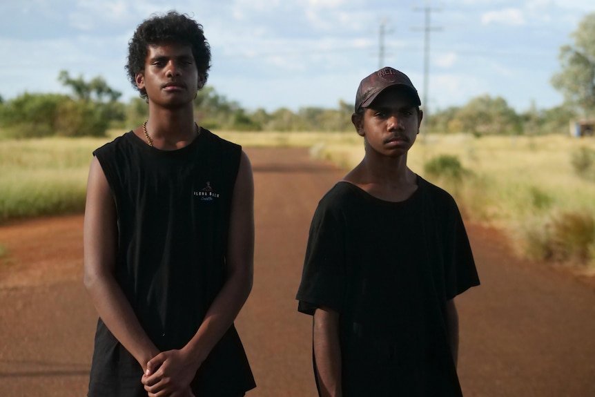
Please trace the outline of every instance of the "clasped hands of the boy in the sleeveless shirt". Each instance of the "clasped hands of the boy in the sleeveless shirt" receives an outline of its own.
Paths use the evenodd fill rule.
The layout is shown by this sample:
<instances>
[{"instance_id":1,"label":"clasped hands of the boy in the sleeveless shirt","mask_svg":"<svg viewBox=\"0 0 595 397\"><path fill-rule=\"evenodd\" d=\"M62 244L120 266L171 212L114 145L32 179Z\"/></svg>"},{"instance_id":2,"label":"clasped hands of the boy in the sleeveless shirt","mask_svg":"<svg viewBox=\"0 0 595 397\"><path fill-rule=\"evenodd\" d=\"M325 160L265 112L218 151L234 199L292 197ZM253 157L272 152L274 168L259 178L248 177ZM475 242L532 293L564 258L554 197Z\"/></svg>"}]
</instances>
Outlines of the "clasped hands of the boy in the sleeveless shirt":
<instances>
[{"instance_id":1,"label":"clasped hands of the boy in the sleeveless shirt","mask_svg":"<svg viewBox=\"0 0 595 397\"><path fill-rule=\"evenodd\" d=\"M183 350L168 350L149 360L142 384L148 397L194 397L190 384L196 371Z\"/></svg>"}]
</instances>

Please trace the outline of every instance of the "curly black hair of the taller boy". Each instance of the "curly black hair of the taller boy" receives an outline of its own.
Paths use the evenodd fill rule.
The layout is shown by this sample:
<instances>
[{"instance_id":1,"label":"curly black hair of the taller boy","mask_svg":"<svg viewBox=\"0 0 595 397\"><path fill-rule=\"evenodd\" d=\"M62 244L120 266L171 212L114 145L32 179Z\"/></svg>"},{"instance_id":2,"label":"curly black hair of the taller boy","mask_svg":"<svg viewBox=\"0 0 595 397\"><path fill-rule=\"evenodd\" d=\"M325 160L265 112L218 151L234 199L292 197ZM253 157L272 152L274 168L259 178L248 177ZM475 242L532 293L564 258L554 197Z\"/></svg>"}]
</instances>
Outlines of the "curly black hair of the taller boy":
<instances>
[{"instance_id":1,"label":"curly black hair of the taller boy","mask_svg":"<svg viewBox=\"0 0 595 397\"><path fill-rule=\"evenodd\" d=\"M211 46L204 37L204 30L187 14L168 11L166 14L153 14L141 23L132 39L128 42L128 80L134 88L139 90L140 96L145 98L146 90L137 87L135 77L142 72L148 54L148 46L161 44L182 44L192 47L192 54L198 72L204 76L203 84L211 68Z\"/></svg>"}]
</instances>

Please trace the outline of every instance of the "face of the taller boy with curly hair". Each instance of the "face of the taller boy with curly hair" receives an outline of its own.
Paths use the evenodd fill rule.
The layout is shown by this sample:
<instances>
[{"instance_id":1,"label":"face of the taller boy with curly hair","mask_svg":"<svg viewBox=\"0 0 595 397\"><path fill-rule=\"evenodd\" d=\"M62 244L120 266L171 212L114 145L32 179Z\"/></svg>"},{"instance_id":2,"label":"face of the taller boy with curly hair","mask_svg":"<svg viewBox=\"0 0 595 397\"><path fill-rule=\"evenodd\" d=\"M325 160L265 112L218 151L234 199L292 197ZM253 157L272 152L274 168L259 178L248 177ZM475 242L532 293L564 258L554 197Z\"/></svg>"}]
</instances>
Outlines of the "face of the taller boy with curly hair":
<instances>
[{"instance_id":1,"label":"face of the taller boy with curly hair","mask_svg":"<svg viewBox=\"0 0 595 397\"><path fill-rule=\"evenodd\" d=\"M149 101L165 107L187 105L202 88L192 48L179 44L150 45L144 70L136 75L139 89L145 89Z\"/></svg>"}]
</instances>

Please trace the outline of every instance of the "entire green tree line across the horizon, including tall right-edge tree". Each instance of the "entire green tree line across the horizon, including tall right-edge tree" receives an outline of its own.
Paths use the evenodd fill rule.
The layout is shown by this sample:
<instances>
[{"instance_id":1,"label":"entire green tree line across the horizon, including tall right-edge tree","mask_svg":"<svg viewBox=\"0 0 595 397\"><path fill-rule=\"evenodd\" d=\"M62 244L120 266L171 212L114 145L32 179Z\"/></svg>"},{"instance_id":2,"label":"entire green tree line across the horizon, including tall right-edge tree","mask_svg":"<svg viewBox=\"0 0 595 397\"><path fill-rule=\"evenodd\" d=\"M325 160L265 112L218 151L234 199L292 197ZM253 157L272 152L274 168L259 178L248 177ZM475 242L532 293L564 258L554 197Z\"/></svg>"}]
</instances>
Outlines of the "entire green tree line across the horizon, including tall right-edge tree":
<instances>
[{"instance_id":1,"label":"entire green tree line across the horizon, including tall right-edge tree","mask_svg":"<svg viewBox=\"0 0 595 397\"><path fill-rule=\"evenodd\" d=\"M517 113L502 97L481 95L465 106L433 112L425 128L436 133L482 135L543 135L567 133L568 122L595 117L595 12L587 14L572 35L574 43L560 48L561 70L552 86L564 95L560 106ZM0 137L104 136L108 128L135 128L148 115L144 99L123 103L121 93L98 76L85 81L59 73L70 94L24 93L14 99L0 96ZM248 111L212 86L200 90L195 116L213 130L344 131L351 125L353 105L339 101L337 108L304 107L297 111L263 108Z\"/></svg>"}]
</instances>

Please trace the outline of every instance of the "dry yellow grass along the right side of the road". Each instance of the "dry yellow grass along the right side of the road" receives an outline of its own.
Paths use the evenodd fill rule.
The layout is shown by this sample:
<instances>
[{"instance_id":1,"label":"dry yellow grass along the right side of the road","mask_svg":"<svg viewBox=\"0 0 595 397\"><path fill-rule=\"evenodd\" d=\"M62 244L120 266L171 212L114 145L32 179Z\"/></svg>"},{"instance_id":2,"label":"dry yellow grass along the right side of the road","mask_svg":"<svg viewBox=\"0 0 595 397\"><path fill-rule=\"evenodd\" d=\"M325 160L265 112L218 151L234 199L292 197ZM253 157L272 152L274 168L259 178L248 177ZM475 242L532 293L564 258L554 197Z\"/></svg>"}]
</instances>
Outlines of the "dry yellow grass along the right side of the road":
<instances>
[{"instance_id":1,"label":"dry yellow grass along the right side of the road","mask_svg":"<svg viewBox=\"0 0 595 397\"><path fill-rule=\"evenodd\" d=\"M429 135L420 137L411 148L408 164L453 193L469 219L503 229L520 255L545 259L547 250L539 249L538 244L551 242L538 238L543 237L543 230L553 227L555 220L574 216L569 214L582 214L581 219L595 214L595 183L576 173L572 165L573 155L585 147L595 150L595 139ZM358 164L363 155L361 144L325 144L320 153L320 157L347 163L347 167ZM425 164L441 155L460 160L471 174L465 183L453 186L447 180L424 175ZM576 226L576 234L581 234L578 229L585 226L583 223L568 222L565 227ZM588 246L588 254L580 249L579 256L585 257L582 262L595 262L594 240L581 243Z\"/></svg>"}]
</instances>

